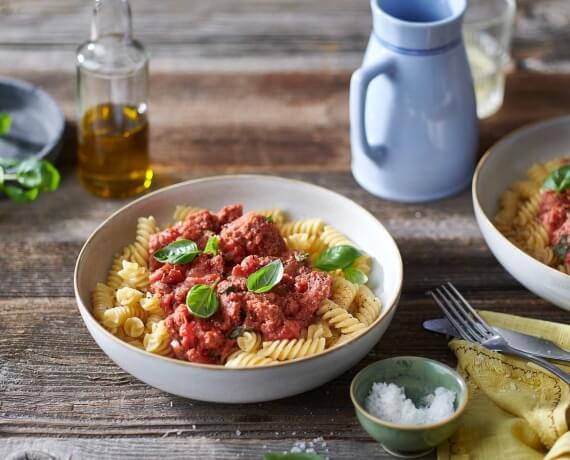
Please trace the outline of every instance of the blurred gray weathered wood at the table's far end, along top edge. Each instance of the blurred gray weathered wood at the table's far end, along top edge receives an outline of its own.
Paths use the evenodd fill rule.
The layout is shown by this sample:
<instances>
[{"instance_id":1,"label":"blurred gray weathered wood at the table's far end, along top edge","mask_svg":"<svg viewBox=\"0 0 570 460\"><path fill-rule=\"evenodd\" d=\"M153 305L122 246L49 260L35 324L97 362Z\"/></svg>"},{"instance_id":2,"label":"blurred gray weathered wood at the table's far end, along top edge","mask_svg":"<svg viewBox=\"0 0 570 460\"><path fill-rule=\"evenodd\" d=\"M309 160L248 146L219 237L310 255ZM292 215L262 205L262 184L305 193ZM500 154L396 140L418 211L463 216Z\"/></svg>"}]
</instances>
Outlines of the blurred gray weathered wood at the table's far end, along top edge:
<instances>
[{"instance_id":1,"label":"blurred gray weathered wood at the table's far end, along top edge","mask_svg":"<svg viewBox=\"0 0 570 460\"><path fill-rule=\"evenodd\" d=\"M516 65L569 72L568 3L517 3ZM132 6L137 37L151 50L153 67L167 72L353 69L371 27L366 1L137 0ZM38 64L72 73L90 9L82 0L0 0L2 73Z\"/></svg>"}]
</instances>

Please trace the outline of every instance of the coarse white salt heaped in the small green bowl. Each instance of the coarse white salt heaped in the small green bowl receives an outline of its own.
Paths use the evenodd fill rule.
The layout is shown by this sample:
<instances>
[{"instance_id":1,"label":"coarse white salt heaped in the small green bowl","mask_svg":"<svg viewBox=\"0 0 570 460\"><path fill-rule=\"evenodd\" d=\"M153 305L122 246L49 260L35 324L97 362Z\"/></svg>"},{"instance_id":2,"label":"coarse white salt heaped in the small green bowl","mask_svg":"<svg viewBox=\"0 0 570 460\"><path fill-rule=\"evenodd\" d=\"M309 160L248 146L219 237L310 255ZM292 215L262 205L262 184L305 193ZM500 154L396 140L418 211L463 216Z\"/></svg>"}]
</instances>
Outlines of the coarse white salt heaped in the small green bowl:
<instances>
[{"instance_id":1,"label":"coarse white salt heaped in the small green bowl","mask_svg":"<svg viewBox=\"0 0 570 460\"><path fill-rule=\"evenodd\" d=\"M456 393L443 387L423 398L419 406L406 398L402 387L393 383L374 383L365 401L366 410L375 417L404 425L426 425L451 417Z\"/></svg>"}]
</instances>

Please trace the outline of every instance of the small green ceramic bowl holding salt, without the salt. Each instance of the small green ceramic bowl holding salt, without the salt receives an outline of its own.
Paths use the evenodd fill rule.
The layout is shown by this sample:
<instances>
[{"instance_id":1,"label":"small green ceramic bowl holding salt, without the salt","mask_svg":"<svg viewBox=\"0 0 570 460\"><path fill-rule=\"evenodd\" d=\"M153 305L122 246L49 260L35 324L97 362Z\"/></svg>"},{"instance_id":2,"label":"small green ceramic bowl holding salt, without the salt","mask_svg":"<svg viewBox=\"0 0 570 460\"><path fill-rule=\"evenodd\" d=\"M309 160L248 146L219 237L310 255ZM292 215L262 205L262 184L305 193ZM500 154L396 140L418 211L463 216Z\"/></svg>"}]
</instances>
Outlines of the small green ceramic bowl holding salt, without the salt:
<instances>
[{"instance_id":1,"label":"small green ceramic bowl holding salt, without the salt","mask_svg":"<svg viewBox=\"0 0 570 460\"><path fill-rule=\"evenodd\" d=\"M437 387L457 394L451 417L429 425L401 425L379 419L366 411L364 401L375 382L403 387L416 405ZM458 428L468 399L465 380L453 369L432 359L402 356L377 361L352 380L350 398L362 428L390 454L401 458L426 455Z\"/></svg>"}]
</instances>

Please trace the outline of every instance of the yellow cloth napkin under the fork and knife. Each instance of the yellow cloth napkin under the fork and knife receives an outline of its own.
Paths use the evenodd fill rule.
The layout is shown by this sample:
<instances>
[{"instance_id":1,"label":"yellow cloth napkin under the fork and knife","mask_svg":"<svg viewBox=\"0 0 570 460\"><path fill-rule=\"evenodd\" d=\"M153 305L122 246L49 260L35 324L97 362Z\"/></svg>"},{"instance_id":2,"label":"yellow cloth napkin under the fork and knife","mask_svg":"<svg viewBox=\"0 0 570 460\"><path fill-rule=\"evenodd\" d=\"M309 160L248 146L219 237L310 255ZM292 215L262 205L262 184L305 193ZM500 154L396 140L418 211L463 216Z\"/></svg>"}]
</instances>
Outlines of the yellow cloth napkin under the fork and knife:
<instances>
[{"instance_id":1,"label":"yellow cloth napkin under the fork and knife","mask_svg":"<svg viewBox=\"0 0 570 460\"><path fill-rule=\"evenodd\" d=\"M494 312L491 324L548 339L570 350L570 326ZM570 459L570 388L524 360L463 340L449 344L469 387L459 430L439 460ZM570 372L570 366L561 366Z\"/></svg>"}]
</instances>

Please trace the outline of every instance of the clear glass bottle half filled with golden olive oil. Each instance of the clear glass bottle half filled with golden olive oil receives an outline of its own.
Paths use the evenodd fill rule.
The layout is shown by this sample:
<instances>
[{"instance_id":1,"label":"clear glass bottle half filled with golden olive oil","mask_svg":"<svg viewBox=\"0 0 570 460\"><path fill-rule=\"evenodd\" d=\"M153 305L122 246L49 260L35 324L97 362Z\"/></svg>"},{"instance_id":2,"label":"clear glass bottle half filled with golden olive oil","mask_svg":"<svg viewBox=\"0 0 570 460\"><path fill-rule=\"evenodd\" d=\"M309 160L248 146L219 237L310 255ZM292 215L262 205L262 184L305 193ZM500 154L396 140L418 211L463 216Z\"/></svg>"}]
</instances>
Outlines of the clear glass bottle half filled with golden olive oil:
<instances>
[{"instance_id":1,"label":"clear glass bottle half filled with golden olive oil","mask_svg":"<svg viewBox=\"0 0 570 460\"><path fill-rule=\"evenodd\" d=\"M77 52L79 177L105 198L148 189L148 56L132 39L127 0L95 0L91 40Z\"/></svg>"}]
</instances>

